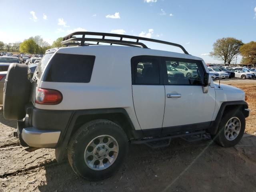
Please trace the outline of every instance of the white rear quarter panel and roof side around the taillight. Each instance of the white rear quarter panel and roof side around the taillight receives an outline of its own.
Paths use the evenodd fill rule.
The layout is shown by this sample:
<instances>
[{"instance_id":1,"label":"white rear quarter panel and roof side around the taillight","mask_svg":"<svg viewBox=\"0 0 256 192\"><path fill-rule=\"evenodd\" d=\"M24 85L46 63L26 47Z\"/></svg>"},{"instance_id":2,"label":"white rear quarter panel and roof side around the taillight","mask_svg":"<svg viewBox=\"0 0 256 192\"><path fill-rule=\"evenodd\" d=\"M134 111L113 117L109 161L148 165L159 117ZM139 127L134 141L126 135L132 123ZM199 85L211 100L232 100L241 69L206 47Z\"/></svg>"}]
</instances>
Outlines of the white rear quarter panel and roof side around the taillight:
<instances>
[{"instance_id":1,"label":"white rear quarter panel and roof side around the taillight","mask_svg":"<svg viewBox=\"0 0 256 192\"><path fill-rule=\"evenodd\" d=\"M131 58L138 55L152 55L202 60L187 54L125 46L65 47L56 50L56 53L96 56L91 80L89 83L38 80L37 88L59 90L63 95L63 100L58 105L34 104L36 108L46 110L125 108L136 130L140 129L140 125L132 100ZM33 103L37 88L34 88L32 92Z\"/></svg>"}]
</instances>

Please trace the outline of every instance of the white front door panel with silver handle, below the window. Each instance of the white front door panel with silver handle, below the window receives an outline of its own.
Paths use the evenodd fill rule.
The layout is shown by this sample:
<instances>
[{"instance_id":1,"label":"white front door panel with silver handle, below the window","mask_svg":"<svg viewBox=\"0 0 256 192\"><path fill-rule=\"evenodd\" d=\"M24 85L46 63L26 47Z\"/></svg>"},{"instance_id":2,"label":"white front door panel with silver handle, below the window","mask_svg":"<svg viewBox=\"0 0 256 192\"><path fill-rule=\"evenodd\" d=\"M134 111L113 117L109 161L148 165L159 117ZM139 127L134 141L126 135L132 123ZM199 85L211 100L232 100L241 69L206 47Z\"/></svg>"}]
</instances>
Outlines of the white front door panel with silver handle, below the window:
<instances>
[{"instance_id":1,"label":"white front door panel with silver handle, below the window","mask_svg":"<svg viewBox=\"0 0 256 192\"><path fill-rule=\"evenodd\" d=\"M165 86L167 94L181 94L180 98L167 98L163 127L212 121L215 108L215 89L203 93L202 86Z\"/></svg>"}]
</instances>

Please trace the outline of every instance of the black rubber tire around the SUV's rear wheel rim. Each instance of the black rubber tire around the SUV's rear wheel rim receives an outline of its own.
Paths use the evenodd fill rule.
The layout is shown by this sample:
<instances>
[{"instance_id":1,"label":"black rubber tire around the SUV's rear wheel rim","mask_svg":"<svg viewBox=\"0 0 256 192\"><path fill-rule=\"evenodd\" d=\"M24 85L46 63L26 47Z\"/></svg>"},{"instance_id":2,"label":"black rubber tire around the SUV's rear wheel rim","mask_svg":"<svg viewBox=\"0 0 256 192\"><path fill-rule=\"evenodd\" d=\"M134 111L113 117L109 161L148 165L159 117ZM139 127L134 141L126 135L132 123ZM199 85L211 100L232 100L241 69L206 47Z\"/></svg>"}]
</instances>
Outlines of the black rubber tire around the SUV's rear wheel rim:
<instances>
[{"instance_id":1,"label":"black rubber tire around the SUV's rear wheel rim","mask_svg":"<svg viewBox=\"0 0 256 192\"><path fill-rule=\"evenodd\" d=\"M116 139L119 152L114 163L104 170L93 170L84 160L86 146L97 136L109 135ZM96 147L95 147L96 148ZM103 180L112 176L121 166L128 152L128 138L122 128L110 120L93 120L82 125L68 143L68 161L74 172L90 181Z\"/></svg>"}]
</instances>

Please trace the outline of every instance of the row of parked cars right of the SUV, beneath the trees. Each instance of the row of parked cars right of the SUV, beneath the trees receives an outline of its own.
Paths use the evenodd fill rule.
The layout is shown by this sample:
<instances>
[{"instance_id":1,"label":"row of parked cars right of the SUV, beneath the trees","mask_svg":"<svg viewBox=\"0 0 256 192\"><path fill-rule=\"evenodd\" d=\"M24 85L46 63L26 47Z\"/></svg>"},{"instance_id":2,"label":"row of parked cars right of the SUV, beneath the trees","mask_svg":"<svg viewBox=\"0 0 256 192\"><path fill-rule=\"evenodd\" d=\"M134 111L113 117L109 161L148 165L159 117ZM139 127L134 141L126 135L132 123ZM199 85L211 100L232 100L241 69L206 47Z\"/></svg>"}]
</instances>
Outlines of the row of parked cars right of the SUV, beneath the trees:
<instances>
[{"instance_id":1,"label":"row of parked cars right of the SUV, beneath the trees","mask_svg":"<svg viewBox=\"0 0 256 192\"><path fill-rule=\"evenodd\" d=\"M241 78L241 79L254 79L256 78L256 70L246 67L221 67L210 66L208 67L213 79L218 78Z\"/></svg>"}]
</instances>

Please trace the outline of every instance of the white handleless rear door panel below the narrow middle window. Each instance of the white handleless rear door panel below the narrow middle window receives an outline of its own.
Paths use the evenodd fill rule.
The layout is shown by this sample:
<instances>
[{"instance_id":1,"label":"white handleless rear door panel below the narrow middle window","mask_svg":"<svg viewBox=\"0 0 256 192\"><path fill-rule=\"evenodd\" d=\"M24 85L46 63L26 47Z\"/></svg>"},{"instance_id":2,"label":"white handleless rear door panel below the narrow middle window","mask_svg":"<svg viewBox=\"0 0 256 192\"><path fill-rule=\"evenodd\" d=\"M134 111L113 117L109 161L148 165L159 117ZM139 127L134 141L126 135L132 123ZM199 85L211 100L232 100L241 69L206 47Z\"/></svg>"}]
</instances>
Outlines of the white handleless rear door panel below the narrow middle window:
<instances>
[{"instance_id":1,"label":"white handleless rear door panel below the narrow middle window","mask_svg":"<svg viewBox=\"0 0 256 192\"><path fill-rule=\"evenodd\" d=\"M163 85L132 85L134 109L141 129L162 128L164 117Z\"/></svg>"}]
</instances>

